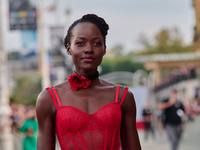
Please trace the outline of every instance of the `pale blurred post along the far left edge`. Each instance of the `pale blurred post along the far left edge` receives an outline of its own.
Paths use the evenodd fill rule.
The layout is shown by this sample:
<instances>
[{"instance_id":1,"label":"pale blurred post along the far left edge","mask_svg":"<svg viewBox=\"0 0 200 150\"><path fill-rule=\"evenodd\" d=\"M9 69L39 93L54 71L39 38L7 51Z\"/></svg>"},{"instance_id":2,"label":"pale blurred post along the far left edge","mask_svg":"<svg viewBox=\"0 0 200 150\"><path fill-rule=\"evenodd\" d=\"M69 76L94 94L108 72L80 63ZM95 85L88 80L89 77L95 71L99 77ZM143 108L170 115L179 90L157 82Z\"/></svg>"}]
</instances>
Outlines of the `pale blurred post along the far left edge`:
<instances>
[{"instance_id":1,"label":"pale blurred post along the far left edge","mask_svg":"<svg viewBox=\"0 0 200 150\"><path fill-rule=\"evenodd\" d=\"M3 46L2 0L0 0L0 149L13 150L11 127L8 125L11 109L7 82L7 57Z\"/></svg>"}]
</instances>

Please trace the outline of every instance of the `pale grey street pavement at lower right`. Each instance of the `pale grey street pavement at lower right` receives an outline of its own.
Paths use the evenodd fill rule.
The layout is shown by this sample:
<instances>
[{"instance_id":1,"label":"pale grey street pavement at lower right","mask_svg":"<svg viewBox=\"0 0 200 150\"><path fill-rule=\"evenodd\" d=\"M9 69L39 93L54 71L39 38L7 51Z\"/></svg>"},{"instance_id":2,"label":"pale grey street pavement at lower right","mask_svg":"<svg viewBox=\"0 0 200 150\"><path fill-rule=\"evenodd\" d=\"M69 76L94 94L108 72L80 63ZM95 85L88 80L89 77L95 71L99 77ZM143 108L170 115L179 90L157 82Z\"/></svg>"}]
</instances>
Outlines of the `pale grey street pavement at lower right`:
<instances>
[{"instance_id":1,"label":"pale grey street pavement at lower right","mask_svg":"<svg viewBox=\"0 0 200 150\"><path fill-rule=\"evenodd\" d=\"M138 131L142 150L171 150L165 131L163 136L153 139L149 135L148 140L144 140L144 131ZM200 116L194 122L185 124L179 150L200 150Z\"/></svg>"}]
</instances>

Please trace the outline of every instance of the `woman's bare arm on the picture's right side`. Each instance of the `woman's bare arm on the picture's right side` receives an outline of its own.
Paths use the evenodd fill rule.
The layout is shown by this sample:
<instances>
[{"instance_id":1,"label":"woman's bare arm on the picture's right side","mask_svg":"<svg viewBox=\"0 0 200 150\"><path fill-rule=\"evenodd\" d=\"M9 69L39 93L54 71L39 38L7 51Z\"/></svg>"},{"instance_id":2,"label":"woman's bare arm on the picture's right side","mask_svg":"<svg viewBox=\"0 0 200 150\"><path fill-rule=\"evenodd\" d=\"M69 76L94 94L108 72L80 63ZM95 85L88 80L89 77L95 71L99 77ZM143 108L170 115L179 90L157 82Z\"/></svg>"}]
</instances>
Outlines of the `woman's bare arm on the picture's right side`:
<instances>
[{"instance_id":1,"label":"woman's bare arm on the picture's right side","mask_svg":"<svg viewBox=\"0 0 200 150\"><path fill-rule=\"evenodd\" d=\"M136 105L129 91L122 104L121 144L123 150L141 150L136 127Z\"/></svg>"}]
</instances>

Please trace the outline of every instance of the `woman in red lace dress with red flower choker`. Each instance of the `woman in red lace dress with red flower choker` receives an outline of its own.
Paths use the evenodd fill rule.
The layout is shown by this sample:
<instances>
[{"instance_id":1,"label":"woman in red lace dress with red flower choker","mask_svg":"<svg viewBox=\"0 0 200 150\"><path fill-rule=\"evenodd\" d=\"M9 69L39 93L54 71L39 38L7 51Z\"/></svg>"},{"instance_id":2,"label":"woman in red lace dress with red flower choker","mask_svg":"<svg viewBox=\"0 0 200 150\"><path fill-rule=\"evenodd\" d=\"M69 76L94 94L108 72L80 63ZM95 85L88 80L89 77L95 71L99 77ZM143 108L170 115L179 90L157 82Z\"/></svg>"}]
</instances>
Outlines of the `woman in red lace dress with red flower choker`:
<instances>
[{"instance_id":1,"label":"woman in red lace dress with red flower choker","mask_svg":"<svg viewBox=\"0 0 200 150\"><path fill-rule=\"evenodd\" d=\"M42 91L37 100L38 150L140 150L136 106L128 88L101 78L106 53L105 20L88 14L75 21L64 39L75 65L68 81Z\"/></svg>"}]
</instances>

